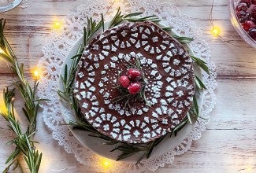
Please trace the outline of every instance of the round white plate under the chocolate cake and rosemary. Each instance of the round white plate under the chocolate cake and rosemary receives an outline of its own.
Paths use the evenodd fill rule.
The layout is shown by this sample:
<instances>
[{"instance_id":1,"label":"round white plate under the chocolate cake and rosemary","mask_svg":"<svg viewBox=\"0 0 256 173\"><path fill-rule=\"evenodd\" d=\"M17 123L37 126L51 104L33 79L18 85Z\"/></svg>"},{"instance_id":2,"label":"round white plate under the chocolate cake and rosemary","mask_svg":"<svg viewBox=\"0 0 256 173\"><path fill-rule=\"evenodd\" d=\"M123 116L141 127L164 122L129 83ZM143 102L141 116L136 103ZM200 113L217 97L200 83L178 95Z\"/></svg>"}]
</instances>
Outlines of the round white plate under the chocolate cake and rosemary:
<instances>
[{"instance_id":1,"label":"round white plate under the chocolate cake and rosemary","mask_svg":"<svg viewBox=\"0 0 256 173\"><path fill-rule=\"evenodd\" d=\"M165 24L163 22L161 23L161 25L165 27ZM101 32L102 31L99 31L99 33L101 33ZM176 34L176 33L174 33L174 34ZM71 57L76 55L76 52L82 42L83 42L83 37L78 39L78 41L74 44L74 46L72 46L72 49L69 51L68 56L65 58L65 61L63 61L63 66L61 68L61 75L64 75L65 64L68 65L68 69L69 69L71 62L72 62ZM187 49L190 50L190 52L193 55L193 51L190 49L189 46L187 46ZM194 66L194 72L196 75L202 77L201 69L198 68L197 66ZM63 89L61 82L59 83L59 89L60 90ZM199 110L202 107L202 95L203 94L196 94ZM63 107L62 113L64 116L65 123L69 123L70 120L76 120L75 114L67 111L70 109L70 107L62 101L61 101L61 103L62 103L61 105ZM174 149L177 145L180 144L180 142L182 142L184 140L184 138L187 136L187 134L189 134L189 132L191 132L192 128L193 128L193 124L187 123L187 125L182 130L180 130L178 132L176 137L174 137L174 134L172 135L171 138L166 137L157 147L154 148L153 152L151 153L150 158L153 158L156 156L161 156L163 153L167 153L170 150ZM98 153L101 156L107 157L112 160L116 160L117 156L121 154L118 151L109 152L110 150L112 150L115 147L115 145L104 145L103 143L106 141L104 141L100 138L88 136L88 134L90 134L90 133L88 133L86 131L73 130L72 127L69 127L69 129L82 145L85 145L88 149L91 149L92 151L94 151L95 153ZM130 156L130 157L124 159L124 161L136 161L139 159L139 156L141 156L141 154L142 153L138 153L138 154L135 154L134 156Z\"/></svg>"}]
</instances>

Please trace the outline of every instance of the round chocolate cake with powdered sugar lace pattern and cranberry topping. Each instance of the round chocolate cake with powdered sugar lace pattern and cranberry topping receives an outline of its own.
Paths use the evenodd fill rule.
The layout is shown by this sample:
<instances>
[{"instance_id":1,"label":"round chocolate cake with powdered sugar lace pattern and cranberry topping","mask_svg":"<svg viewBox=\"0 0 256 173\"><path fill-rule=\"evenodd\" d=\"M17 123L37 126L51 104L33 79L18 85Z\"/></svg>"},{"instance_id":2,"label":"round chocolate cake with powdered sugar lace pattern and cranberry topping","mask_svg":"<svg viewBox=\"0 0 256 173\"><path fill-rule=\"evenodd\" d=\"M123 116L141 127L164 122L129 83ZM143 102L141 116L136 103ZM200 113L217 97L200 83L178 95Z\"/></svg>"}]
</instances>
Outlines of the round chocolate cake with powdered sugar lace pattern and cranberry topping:
<instances>
[{"instance_id":1,"label":"round chocolate cake with powdered sugar lace pattern and cranberry topping","mask_svg":"<svg viewBox=\"0 0 256 173\"><path fill-rule=\"evenodd\" d=\"M98 35L79 66L74 94L85 120L117 141L159 138L191 107L191 57L151 22L122 24Z\"/></svg>"}]
</instances>

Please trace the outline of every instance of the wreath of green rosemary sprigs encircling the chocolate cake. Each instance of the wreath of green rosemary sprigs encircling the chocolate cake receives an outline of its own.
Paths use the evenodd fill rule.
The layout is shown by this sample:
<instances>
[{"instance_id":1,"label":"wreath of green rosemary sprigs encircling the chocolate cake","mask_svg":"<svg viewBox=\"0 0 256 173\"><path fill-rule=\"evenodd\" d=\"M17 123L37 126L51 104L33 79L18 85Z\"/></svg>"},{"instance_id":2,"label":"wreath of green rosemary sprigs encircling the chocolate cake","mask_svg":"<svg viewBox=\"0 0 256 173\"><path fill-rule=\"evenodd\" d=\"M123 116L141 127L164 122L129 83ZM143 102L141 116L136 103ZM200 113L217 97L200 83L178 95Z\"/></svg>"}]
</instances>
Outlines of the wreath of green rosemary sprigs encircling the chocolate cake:
<instances>
[{"instance_id":1,"label":"wreath of green rosemary sprigs encircling the chocolate cake","mask_svg":"<svg viewBox=\"0 0 256 173\"><path fill-rule=\"evenodd\" d=\"M117 26L118 24L121 24L122 21L124 20L128 20L130 22L139 22L139 21L145 21L145 20L150 20L154 23L158 23L160 20L158 19L158 17L155 16L150 16L150 17L138 17L139 15L141 15L142 13L130 13L128 15L123 15L121 13L120 8L117 9L117 13L116 15L113 17L113 20L111 20L110 24L109 24L109 28L113 28L115 26ZM103 17L102 17L103 19ZM91 23L87 25L87 28L84 29L84 45L83 46L87 46L87 43L90 41L90 39L92 38L92 35L88 35L87 33L93 33L91 30L93 30L94 32L97 32L96 29L91 29L95 26L99 26L98 24L92 24L95 21L90 21L87 22ZM104 27L104 20L102 20L102 24ZM172 28L169 27L165 27L163 28L165 29L165 31L171 31ZM104 30L104 28L103 28ZM182 44L184 44L186 46L186 44L188 42L191 42L193 39L191 38L187 38L187 37L179 37L177 35L173 35L178 41L180 41ZM72 72L76 71L77 69L77 63L80 60L81 57L81 53L80 51L78 51L78 54L76 56L74 56L72 58L72 65L70 70L68 71L67 66L65 66L65 76L61 76L61 82L63 83L63 87L64 87L64 91L59 91L58 94L60 95L61 98L64 98L64 100L68 100L71 105L72 105L72 109L76 114L76 121L70 121L69 125L72 126L73 129L76 130L80 130L80 131L87 131L90 132L90 136L95 137L95 138L101 138L103 139L104 142L103 144L105 145L115 145L115 147L110 151L110 152L114 152L114 151L119 151L121 152L121 154L119 156L117 156L117 160L123 160L124 158L127 158L128 156L132 156L136 153L140 153L140 157L139 160L137 160L137 164L139 164L139 162L141 160L143 160L143 158L149 158L150 154L153 152L154 148L161 143L161 141L168 135L172 135L173 133L176 135L178 133L178 131L180 131L186 124L188 121L191 122L191 118L195 118L197 119L199 110L198 110L198 104L197 104L197 100L194 97L193 99L193 103L191 106L191 109L189 110L189 112L187 113L186 118L184 118L184 120L175 128L173 129L173 131L171 133L168 133L164 136L162 136L161 138L157 138L155 139L153 142L148 142L146 144L128 144L126 142L118 142L113 140L113 138L109 138L108 136L100 133L99 131L97 131L95 129L95 127L92 127L91 123L88 123L87 120L84 120L83 115L80 112L80 108L78 106L78 102L76 100L76 98L74 98L72 96L72 81L74 79L74 74ZM200 68L207 70L207 66L206 63L203 63L203 61L199 60L198 58L194 58L193 59L195 61L196 64L204 64L204 65L199 65ZM138 62L136 62L138 63ZM138 64L130 64L130 65L138 65ZM136 67L138 69L140 69L140 65L138 67ZM207 72L207 71L206 71ZM200 89L203 89L205 87L203 87L203 83L202 81L198 78L195 77L195 79L197 79L198 81L198 86L201 86ZM67 81L71 81L70 83ZM117 87L118 88L118 87ZM124 95L125 96L125 95ZM125 96L126 97L126 96ZM145 97L145 94L140 94L140 97ZM68 98L68 99L65 99ZM145 97L146 98L146 97ZM123 98L118 98L118 100L122 100Z\"/></svg>"}]
</instances>

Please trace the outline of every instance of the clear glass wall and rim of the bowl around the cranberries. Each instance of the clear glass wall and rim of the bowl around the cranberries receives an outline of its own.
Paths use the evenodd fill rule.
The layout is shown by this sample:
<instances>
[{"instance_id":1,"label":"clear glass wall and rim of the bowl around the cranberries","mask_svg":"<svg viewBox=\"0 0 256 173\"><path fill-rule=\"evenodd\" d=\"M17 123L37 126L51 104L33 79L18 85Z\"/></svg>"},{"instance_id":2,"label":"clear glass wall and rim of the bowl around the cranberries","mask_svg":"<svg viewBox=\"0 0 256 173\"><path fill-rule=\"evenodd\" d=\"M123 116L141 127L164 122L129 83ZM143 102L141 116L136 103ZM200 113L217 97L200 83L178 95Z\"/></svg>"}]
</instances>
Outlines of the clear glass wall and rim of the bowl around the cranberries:
<instances>
[{"instance_id":1,"label":"clear glass wall and rim of the bowl around the cranberries","mask_svg":"<svg viewBox=\"0 0 256 173\"><path fill-rule=\"evenodd\" d=\"M239 4L240 0L228 0L228 9L230 20L240 35L240 37L245 40L250 46L253 46L256 49L256 41L248 35L247 31L245 31L239 23L238 17L236 16L236 6Z\"/></svg>"}]
</instances>

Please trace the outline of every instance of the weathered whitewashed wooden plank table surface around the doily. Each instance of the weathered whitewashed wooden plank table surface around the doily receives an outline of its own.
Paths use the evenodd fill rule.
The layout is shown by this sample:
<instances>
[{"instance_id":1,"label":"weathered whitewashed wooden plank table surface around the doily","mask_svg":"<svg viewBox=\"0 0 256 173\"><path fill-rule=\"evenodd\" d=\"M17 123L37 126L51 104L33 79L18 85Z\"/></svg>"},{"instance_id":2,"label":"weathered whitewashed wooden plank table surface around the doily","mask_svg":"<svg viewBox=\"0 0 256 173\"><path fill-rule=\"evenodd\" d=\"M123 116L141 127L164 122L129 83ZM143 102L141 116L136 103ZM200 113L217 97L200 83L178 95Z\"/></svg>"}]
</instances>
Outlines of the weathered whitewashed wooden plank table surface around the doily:
<instances>
[{"instance_id":1,"label":"weathered whitewashed wooden plank table surface around the doily","mask_svg":"<svg viewBox=\"0 0 256 173\"><path fill-rule=\"evenodd\" d=\"M165 0L168 2L168 0ZM20 62L24 63L25 75L43 56L44 38L50 33L54 18L62 19L75 12L82 0L36 0L28 8L17 7L5 17L6 37L11 42ZM210 34L209 13L211 1L173 0L181 13L186 14L202 29L202 37L208 43L212 60L217 64L217 105L202 138L193 142L183 156L176 156L172 165L157 172L256 172L256 50L239 37L228 18L227 1L215 0L214 24L221 26L221 36L232 44L214 38ZM6 62L0 58L0 95L2 89L12 83L12 75ZM17 112L23 103L16 97ZM65 153L51 132L38 118L38 149L43 152L40 172L95 172L91 167L79 164L73 155ZM0 118L0 171L13 146L6 142L13 133ZM25 164L22 163L24 166ZM28 171L24 167L25 171Z\"/></svg>"}]
</instances>

